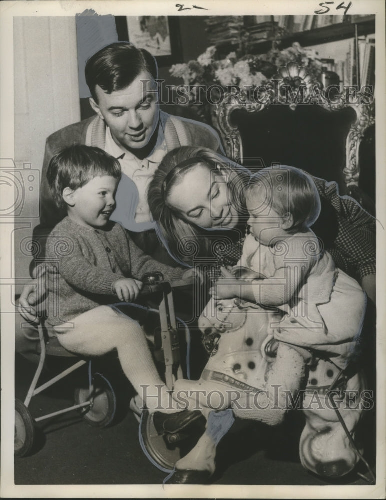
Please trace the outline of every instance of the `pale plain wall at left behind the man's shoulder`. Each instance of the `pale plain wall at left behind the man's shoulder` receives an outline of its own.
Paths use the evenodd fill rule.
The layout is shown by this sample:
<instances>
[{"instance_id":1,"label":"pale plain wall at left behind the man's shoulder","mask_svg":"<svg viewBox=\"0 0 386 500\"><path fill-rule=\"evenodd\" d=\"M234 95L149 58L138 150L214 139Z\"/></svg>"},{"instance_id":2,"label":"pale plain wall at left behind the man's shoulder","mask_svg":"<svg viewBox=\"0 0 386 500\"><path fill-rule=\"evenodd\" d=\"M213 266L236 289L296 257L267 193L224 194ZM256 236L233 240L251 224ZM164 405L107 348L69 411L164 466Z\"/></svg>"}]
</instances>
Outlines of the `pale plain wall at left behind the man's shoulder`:
<instances>
[{"instance_id":1,"label":"pale plain wall at left behind the man's shoulder","mask_svg":"<svg viewBox=\"0 0 386 500\"><path fill-rule=\"evenodd\" d=\"M15 230L15 274L26 278L31 258L25 255L25 238L39 222L38 185L45 139L79 121L80 111L75 18L14 19L14 159L18 169L25 167L26 191L23 217L17 219L21 225Z\"/></svg>"}]
</instances>

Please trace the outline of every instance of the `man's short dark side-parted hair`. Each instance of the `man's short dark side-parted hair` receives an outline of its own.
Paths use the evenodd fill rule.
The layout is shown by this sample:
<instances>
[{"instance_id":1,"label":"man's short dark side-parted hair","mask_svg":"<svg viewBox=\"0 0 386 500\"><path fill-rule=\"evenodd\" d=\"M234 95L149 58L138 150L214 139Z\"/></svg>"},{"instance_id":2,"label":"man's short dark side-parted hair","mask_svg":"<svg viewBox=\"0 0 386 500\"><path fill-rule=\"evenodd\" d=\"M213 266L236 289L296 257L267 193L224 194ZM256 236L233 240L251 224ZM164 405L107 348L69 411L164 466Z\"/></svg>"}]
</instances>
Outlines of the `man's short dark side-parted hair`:
<instances>
[{"instance_id":1,"label":"man's short dark side-parted hair","mask_svg":"<svg viewBox=\"0 0 386 500\"><path fill-rule=\"evenodd\" d=\"M118 42L102 48L87 60L85 77L93 99L98 102L96 85L110 94L129 86L142 71L147 71L156 79L155 58L143 48Z\"/></svg>"}]
</instances>

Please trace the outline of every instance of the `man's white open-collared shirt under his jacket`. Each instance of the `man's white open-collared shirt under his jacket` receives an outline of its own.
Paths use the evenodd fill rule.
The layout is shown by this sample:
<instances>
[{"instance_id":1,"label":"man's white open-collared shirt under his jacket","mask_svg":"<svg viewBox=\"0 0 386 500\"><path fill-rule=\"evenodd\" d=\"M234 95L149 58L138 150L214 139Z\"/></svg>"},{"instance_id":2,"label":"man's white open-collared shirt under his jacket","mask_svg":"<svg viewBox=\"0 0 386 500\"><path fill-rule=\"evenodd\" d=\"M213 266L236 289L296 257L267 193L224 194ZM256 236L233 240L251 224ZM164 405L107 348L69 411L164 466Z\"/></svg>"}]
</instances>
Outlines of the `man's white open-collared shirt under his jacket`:
<instances>
[{"instance_id":1,"label":"man's white open-collared shirt under his jacket","mask_svg":"<svg viewBox=\"0 0 386 500\"><path fill-rule=\"evenodd\" d=\"M117 208L111 219L134 232L154 229L146 189L167 153L162 123L160 122L158 127L157 142L153 151L143 160L119 146L114 141L109 127L106 127L105 151L118 159L122 169L122 178L116 193Z\"/></svg>"}]
</instances>

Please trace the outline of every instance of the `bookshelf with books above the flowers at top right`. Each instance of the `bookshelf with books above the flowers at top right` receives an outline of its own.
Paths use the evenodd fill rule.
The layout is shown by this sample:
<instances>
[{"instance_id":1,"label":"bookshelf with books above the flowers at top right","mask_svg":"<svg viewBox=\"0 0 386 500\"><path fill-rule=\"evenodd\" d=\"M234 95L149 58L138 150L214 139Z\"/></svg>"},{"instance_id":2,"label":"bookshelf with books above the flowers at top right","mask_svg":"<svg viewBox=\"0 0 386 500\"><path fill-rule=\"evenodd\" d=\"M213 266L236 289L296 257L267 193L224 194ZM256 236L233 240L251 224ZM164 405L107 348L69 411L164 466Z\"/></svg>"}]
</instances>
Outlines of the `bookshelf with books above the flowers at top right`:
<instances>
[{"instance_id":1,"label":"bookshelf with books above the flowers at top right","mask_svg":"<svg viewBox=\"0 0 386 500\"><path fill-rule=\"evenodd\" d=\"M375 85L375 39L371 36L375 15L226 16L208 18L206 24L219 59L230 52L260 56L297 42L304 48L318 47L317 60L330 75L335 73L331 76L334 84L338 78L341 86Z\"/></svg>"}]
</instances>

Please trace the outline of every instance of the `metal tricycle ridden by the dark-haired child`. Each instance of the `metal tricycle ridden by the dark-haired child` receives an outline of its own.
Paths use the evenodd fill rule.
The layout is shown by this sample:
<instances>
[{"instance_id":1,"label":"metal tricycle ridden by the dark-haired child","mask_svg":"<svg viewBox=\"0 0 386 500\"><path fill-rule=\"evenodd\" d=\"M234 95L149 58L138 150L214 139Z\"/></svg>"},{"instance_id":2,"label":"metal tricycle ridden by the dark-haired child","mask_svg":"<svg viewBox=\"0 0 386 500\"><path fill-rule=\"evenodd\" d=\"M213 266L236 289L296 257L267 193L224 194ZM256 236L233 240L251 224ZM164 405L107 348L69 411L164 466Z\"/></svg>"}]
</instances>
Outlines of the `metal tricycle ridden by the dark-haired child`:
<instances>
[{"instance_id":1,"label":"metal tricycle ridden by the dark-haired child","mask_svg":"<svg viewBox=\"0 0 386 500\"><path fill-rule=\"evenodd\" d=\"M154 333L154 339L151 339L151 348L156 361L165 365L165 369L161 371L165 371L166 384L172 388L174 380L183 376L172 290L182 286L192 286L192 281L164 282L161 273L146 274L142 280L144 286L140 297L154 295L154 298L157 299L161 295L158 310L126 302L114 304L113 307L123 310L140 323L146 322L149 315L152 316L152 319L153 316L157 316L156 321L160 323L160 326L157 326L155 331L152 332ZM152 323L154 324L154 321ZM188 337L188 328L184 326L183 330L186 337ZM68 352L60 345L56 337L48 337L44 321L39 322L38 331L41 352L36 372L25 399L23 401L15 399L14 454L18 457L25 456L31 452L35 437L35 423L78 410L89 425L106 427L112 422L116 412L116 396L112 384L106 376L93 372L92 361ZM58 375L38 386L47 356L71 358L74 362L70 367L67 367ZM87 363L87 386L75 388L74 404L58 411L33 417L29 409L32 397L51 387ZM145 453L152 461L156 461L157 466L161 465L161 468L172 467L175 461L180 458L182 451L180 447L175 446L175 442L180 440L181 436L177 434L168 435L165 439L162 436L158 436L153 426L153 417L146 410L143 412L141 419L140 434L141 444ZM188 445L188 441L189 439L185 441L185 446Z\"/></svg>"}]
</instances>

